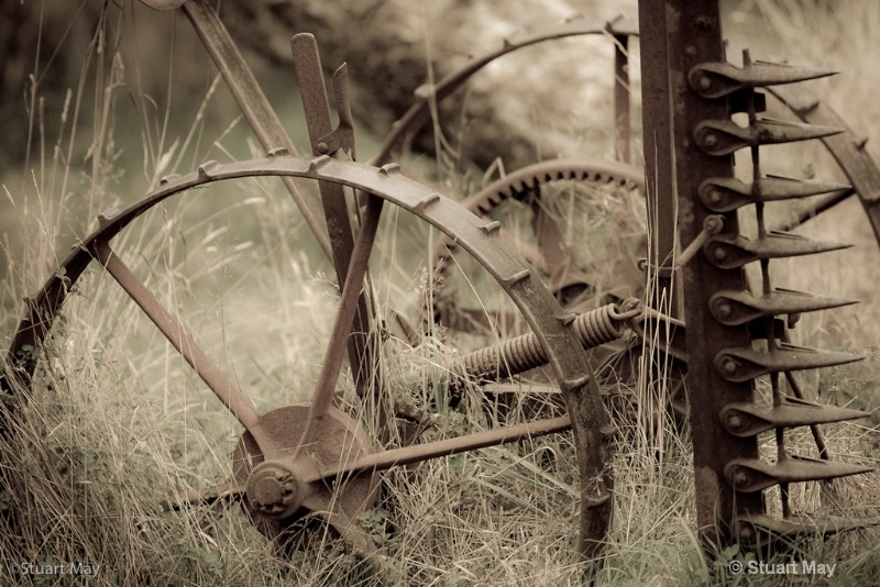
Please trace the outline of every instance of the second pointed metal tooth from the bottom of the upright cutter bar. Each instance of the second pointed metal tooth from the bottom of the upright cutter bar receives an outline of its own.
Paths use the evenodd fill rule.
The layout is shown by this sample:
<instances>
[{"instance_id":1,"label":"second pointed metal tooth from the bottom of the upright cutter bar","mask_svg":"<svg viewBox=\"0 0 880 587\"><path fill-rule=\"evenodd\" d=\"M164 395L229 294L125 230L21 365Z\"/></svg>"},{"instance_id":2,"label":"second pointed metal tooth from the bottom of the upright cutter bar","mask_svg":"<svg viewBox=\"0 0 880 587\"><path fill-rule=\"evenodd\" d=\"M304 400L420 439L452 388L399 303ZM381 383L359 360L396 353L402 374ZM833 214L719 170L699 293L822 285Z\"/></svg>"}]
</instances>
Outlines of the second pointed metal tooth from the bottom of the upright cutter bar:
<instances>
[{"instance_id":1,"label":"second pointed metal tooth from the bottom of the upright cutter bar","mask_svg":"<svg viewBox=\"0 0 880 587\"><path fill-rule=\"evenodd\" d=\"M798 456L776 464L760 458L735 458L725 465L724 477L737 491L752 492L771 485L834 479L871 470L862 465Z\"/></svg>"}]
</instances>

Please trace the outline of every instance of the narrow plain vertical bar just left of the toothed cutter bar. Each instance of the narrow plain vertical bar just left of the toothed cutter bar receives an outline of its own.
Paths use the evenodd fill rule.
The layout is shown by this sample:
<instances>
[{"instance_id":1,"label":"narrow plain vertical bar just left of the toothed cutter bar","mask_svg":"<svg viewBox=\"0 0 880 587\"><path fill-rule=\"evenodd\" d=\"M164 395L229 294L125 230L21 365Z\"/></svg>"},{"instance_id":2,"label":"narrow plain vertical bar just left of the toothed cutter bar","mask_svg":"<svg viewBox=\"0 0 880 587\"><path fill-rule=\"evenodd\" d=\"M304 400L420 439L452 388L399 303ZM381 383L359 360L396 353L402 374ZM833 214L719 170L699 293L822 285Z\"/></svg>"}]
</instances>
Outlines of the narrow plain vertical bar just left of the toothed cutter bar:
<instances>
[{"instance_id":1,"label":"narrow plain vertical bar just left of the toothed cutter bar","mask_svg":"<svg viewBox=\"0 0 880 587\"><path fill-rule=\"evenodd\" d=\"M653 296L648 303L672 318L681 318L681 296L673 289L680 286L671 275L675 250L675 178L667 12L660 0L639 0L645 197L651 239L648 267L657 272L656 286L649 288ZM650 272L648 276L651 277Z\"/></svg>"}]
</instances>

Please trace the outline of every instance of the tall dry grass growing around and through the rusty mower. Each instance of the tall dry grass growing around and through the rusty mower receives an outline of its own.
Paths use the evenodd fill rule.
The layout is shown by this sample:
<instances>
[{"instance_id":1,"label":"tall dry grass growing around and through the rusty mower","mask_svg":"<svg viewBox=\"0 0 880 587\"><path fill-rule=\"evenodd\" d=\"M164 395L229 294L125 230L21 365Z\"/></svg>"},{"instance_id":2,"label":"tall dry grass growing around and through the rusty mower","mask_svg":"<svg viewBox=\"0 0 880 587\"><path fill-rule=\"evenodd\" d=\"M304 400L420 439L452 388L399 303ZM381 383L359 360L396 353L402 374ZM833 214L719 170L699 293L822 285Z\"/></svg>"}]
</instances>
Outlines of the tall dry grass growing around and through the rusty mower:
<instances>
[{"instance_id":1,"label":"tall dry grass growing around and through the rusty mower","mask_svg":"<svg viewBox=\"0 0 880 587\"><path fill-rule=\"evenodd\" d=\"M877 29L866 23L880 18L873 3L853 2L848 11L834 14L807 7L793 15L781 12L780 4L760 5L768 22L781 26L788 38L787 55L810 56L812 63L824 64L813 57L840 54L834 58L845 64L871 63L865 58L875 51L868 35ZM175 118L170 106L179 98L173 91L178 84L174 76L166 100L141 92L133 81L138 76L130 74L150 64L124 53L124 43L136 35L123 34L124 22L109 18L112 14L98 25L86 52L80 86L72 88L69 100L57 111L41 110L40 88L33 88L30 108L34 136L40 137L33 143L33 173L3 180L9 210L21 224L21 234L29 236L6 245L6 336L20 317L16 300L51 275L75 242L70 235L84 235L98 211L131 202L132 192L145 191L163 173L188 170L208 155L238 158L240 144L233 143L246 144L227 122L206 122L210 118L206 109L221 99L212 76L187 109L185 123ZM795 16L803 20L792 20ZM816 34L803 34L811 26ZM860 41L844 46L836 41L844 34ZM822 40L824 48L817 49L820 43L813 38ZM858 49L848 55L844 52L850 45ZM868 68L826 82L829 100L839 100L835 107L845 115L857 114L847 117L850 120L877 120L866 117L873 106L870 95L859 93L872 75ZM94 84L96 91L87 91L87 84ZM139 104L141 123L135 126L114 122L125 108L123 97L133 97ZM91 124L82 129L74 122L85 118L85 111L95 115L88 117ZM54 135L41 132L50 126L56 129ZM871 126L866 132L876 134ZM123 144L125 152L120 153ZM803 170L811 164L822 175L827 164L820 163L821 155L807 157L780 165ZM125 184L119 181L123 170ZM161 301L186 321L230 377L249 390L261 411L308 397L322 359L336 291L327 264L302 248L294 234L299 221L293 204L276 186L263 181L241 181L229 190L201 190L178 200L132 225L114 241L114 247ZM374 259L373 278L383 311L415 311L422 299L421 255L432 252L432 233L404 215L394 211L387 215ZM850 222L858 222L854 218L858 219L858 211L845 207L804 231L837 230L864 240L862 251L876 251L871 239L861 239L861 228L847 230ZM596 246L602 255L609 254L607 248ZM583 255L591 253L595 255L592 247ZM854 258L864 267L873 266L867 256L871 253L851 254L847 252L846 263L833 262L831 269L792 267L787 277L795 281L792 286L803 279L811 290L844 294L853 287L871 294L865 277L869 273L847 269ZM596 267L605 266L604 256L591 261ZM502 303L488 286L476 284L479 274L463 265L451 280L473 291L477 302ZM800 326L809 341L871 354L871 361L859 367L811 380L811 390L821 391L822 398L840 400L851 394L869 406L876 401L873 334L870 328L860 328L858 334L853 328L872 323L872 311L856 310L850 318ZM867 334L861 333L865 330ZM476 389L470 391L473 401L465 402L470 406L465 411L446 408L436 384L442 380L444 362L455 352L442 334L426 339L417 348L394 340L386 347L392 389L414 402L437 406L436 425L429 432L433 438L480 430L496 416L476 408L481 405ZM40 352L35 385L29 400L19 402L21 418L13 434L2 441L3 474L14 478L15 485L0 492L0 508L23 522L19 534L0 536L3 585L22 579L64 585L66 578L13 575L10 565L52 567L76 562L101 567L91 582L96 585L583 582L573 553L578 486L568 435L387 474L381 500L363 519L386 557L386 567L376 572L329 535L318 535L315 551L280 556L238 507L223 516L207 507L177 512L162 507L188 490L222 480L241 430L97 268L77 286ZM653 370L645 366L644 373ZM344 377L340 385L351 388ZM714 558L704 555L695 531L686 425L674 424L656 409L668 391L662 378L642 377L636 389L641 398L638 411L616 420L615 517L596 584L777 584L777 577L732 575L727 568L732 561L751 556L736 547ZM865 463L876 463L873 434L865 424L827 429L835 455ZM809 439L798 439L798 445L807 451ZM871 475L810 489L795 499L805 510L832 508L857 517L877 514L878 496L877 477ZM806 540L794 546L793 554L779 554L771 561L837 563L835 584L864 585L877 574L878 551L880 541L869 530Z\"/></svg>"}]
</instances>

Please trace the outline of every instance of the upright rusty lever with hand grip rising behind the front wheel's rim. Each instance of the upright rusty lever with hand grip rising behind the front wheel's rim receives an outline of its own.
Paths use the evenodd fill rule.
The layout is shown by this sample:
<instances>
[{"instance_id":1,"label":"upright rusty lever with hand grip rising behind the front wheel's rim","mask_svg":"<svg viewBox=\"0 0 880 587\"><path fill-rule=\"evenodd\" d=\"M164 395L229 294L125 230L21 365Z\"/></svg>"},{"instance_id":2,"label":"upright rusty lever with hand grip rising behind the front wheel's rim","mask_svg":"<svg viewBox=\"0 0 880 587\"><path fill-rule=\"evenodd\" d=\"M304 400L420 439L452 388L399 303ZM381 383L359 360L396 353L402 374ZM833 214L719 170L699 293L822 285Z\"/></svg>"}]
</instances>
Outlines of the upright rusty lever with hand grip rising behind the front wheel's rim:
<instances>
[{"instance_id":1,"label":"upright rusty lever with hand grip rising behind the front wheel's rim","mask_svg":"<svg viewBox=\"0 0 880 587\"><path fill-rule=\"evenodd\" d=\"M295 35L290 40L290 48L294 54L294 65L306 114L306 126L314 154L336 157L337 152L341 149L346 157L354 160L354 134L345 88L344 64L333 75L334 98L340 119L340 126L333 131L330 120L330 102L315 37L307 33ZM334 146L336 148L333 148ZM341 185L319 181L318 186L327 230L330 234L332 261L341 287L346 283L354 248L349 207ZM377 351L370 341L372 312L369 296L369 290L361 291L359 288L358 299L353 302L353 308L356 309L354 321L346 324L346 328L350 329L350 336L346 335L342 340L349 350L349 363L352 368L354 386L361 397L366 397L369 391L372 391L374 396L382 392L382 384L376 380L378 370L374 367L374 356ZM377 406L381 405L382 402L377 401Z\"/></svg>"}]
</instances>

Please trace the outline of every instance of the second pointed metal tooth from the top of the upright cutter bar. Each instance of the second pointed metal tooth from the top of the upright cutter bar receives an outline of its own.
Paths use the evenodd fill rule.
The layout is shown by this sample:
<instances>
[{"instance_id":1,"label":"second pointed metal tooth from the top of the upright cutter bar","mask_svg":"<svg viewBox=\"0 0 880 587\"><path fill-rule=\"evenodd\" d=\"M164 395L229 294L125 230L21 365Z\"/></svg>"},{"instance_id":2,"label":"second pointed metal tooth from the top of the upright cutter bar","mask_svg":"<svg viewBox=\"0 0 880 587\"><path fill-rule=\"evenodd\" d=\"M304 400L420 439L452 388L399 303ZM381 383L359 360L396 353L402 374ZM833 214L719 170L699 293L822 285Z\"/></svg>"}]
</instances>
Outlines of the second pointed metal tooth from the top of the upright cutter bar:
<instances>
[{"instance_id":1,"label":"second pointed metal tooth from the top of the upright cutter bar","mask_svg":"<svg viewBox=\"0 0 880 587\"><path fill-rule=\"evenodd\" d=\"M708 155L729 155L740 148L822 139L844 132L833 126L762 119L754 125L739 126L732 120L704 120L696 125L694 139Z\"/></svg>"}]
</instances>

